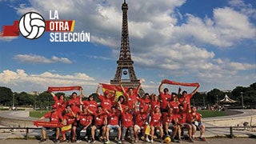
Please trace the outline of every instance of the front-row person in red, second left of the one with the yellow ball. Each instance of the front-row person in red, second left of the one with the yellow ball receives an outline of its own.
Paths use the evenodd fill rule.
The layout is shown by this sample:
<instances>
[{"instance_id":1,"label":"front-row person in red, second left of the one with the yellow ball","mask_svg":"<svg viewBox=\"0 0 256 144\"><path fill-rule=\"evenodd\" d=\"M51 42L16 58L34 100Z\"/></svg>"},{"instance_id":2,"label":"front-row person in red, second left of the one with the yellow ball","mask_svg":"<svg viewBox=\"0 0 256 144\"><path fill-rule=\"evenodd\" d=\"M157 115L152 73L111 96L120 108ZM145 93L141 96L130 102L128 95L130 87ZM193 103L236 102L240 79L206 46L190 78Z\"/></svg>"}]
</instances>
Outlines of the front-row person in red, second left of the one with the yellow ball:
<instances>
[{"instance_id":1,"label":"front-row person in red, second left of the one with the yellow ball","mask_svg":"<svg viewBox=\"0 0 256 144\"><path fill-rule=\"evenodd\" d=\"M135 125L134 125L134 136L135 142L138 142L138 130L141 131L142 134L145 134L146 126L149 125L149 112L145 111L145 106L139 106L139 110L136 107L135 109ZM150 142L148 135L146 134L145 138L146 142Z\"/></svg>"}]
</instances>

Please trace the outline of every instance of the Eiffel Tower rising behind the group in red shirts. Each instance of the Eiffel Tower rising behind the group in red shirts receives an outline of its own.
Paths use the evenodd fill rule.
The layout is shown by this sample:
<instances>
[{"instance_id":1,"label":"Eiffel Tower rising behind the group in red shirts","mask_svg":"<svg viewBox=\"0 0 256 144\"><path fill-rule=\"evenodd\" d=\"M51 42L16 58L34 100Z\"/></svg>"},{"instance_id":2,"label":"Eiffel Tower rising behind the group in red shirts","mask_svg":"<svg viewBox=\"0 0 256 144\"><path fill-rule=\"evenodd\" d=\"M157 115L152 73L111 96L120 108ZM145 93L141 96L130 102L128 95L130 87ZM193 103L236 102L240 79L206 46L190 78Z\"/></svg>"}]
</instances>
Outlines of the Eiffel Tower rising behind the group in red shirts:
<instances>
[{"instance_id":1,"label":"Eiffel Tower rising behind the group in red shirts","mask_svg":"<svg viewBox=\"0 0 256 144\"><path fill-rule=\"evenodd\" d=\"M117 61L118 67L114 79L110 80L110 84L120 85L120 83L122 83L122 86L137 88L140 82L136 77L134 61L131 59L130 55L127 11L128 4L126 3L126 0L124 0L122 3L122 38L119 59ZM129 74L129 79L122 79L122 74Z\"/></svg>"}]
</instances>

